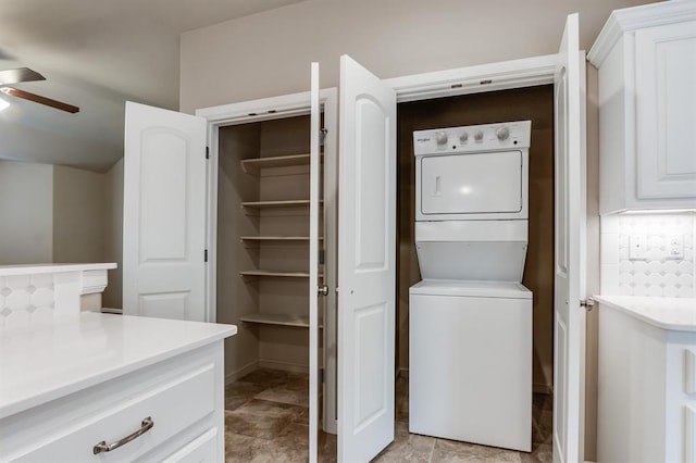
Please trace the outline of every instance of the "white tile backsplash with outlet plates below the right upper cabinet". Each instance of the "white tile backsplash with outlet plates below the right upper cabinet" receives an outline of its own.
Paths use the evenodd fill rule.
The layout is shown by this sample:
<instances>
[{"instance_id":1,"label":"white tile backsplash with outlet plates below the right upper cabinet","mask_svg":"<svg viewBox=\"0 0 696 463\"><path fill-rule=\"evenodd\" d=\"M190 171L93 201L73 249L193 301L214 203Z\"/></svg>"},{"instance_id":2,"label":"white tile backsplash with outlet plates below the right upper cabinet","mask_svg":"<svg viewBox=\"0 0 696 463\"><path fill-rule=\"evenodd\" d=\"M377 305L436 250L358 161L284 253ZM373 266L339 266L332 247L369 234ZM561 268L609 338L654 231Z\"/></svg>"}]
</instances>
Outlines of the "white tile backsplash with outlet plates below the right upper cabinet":
<instances>
[{"instance_id":1,"label":"white tile backsplash with outlet plates below the right upper cabinet","mask_svg":"<svg viewBox=\"0 0 696 463\"><path fill-rule=\"evenodd\" d=\"M601 293L696 297L695 228L693 212L602 216ZM682 254L678 258L670 255L675 237L681 239ZM635 252L636 247L639 253Z\"/></svg>"}]
</instances>

